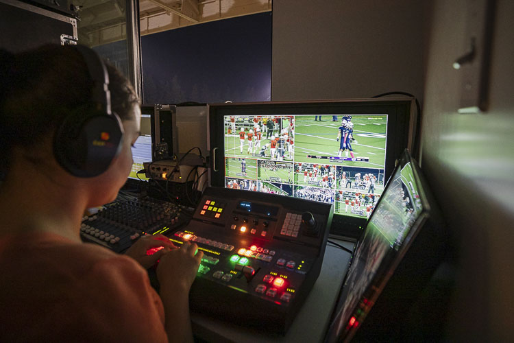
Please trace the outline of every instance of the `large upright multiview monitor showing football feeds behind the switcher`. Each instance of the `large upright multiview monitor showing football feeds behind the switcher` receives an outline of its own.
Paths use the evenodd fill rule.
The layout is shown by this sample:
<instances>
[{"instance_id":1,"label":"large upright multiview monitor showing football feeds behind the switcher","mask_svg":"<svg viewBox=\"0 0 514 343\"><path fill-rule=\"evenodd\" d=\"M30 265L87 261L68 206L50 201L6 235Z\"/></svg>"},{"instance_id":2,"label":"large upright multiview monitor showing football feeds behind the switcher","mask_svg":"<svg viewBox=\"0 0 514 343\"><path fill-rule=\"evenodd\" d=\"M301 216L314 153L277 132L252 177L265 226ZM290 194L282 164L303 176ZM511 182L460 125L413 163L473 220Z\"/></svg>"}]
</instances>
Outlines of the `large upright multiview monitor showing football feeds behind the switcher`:
<instances>
[{"instance_id":1,"label":"large upright multiview monitor showing football feeds behind the switcher","mask_svg":"<svg viewBox=\"0 0 514 343\"><path fill-rule=\"evenodd\" d=\"M412 98L209 106L211 184L334 204L358 237L395 158L412 147Z\"/></svg>"}]
</instances>

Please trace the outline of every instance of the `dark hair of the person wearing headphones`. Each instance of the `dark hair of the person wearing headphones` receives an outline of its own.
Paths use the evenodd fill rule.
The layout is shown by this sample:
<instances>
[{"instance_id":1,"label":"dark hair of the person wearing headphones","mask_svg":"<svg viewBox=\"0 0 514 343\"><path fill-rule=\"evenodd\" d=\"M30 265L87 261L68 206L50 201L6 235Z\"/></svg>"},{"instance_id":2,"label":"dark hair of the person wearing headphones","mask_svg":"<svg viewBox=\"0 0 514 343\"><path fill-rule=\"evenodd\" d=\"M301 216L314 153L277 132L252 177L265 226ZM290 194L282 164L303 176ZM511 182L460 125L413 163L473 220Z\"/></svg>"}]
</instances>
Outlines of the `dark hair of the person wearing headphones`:
<instances>
[{"instance_id":1,"label":"dark hair of the person wearing headphones","mask_svg":"<svg viewBox=\"0 0 514 343\"><path fill-rule=\"evenodd\" d=\"M112 111L131 119L136 92L116 68L106 67ZM86 62L73 47L45 45L20 54L0 49L0 170L9 165L14 146L34 146L71 111L90 103L92 89Z\"/></svg>"}]
</instances>

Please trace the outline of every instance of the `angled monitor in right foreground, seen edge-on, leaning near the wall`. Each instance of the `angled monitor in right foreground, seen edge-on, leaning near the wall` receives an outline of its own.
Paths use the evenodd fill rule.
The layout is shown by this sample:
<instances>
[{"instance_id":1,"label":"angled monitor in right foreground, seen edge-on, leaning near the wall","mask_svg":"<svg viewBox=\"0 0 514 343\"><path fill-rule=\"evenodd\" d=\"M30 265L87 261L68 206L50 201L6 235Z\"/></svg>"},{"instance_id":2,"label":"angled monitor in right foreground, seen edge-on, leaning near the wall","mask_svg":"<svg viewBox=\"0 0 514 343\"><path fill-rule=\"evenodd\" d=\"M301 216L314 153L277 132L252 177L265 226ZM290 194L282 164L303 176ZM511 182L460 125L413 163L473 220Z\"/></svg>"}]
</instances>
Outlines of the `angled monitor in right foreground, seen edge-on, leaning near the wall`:
<instances>
[{"instance_id":1,"label":"angled monitor in right foreground, seen edge-on, leaning near the wall","mask_svg":"<svg viewBox=\"0 0 514 343\"><path fill-rule=\"evenodd\" d=\"M428 336L438 333L419 332L429 327L426 320L409 329L406 323L416 303L422 303L419 298L447 243L437 204L406 151L354 248L326 342L402 342L418 334L421 341L431 341ZM425 303L438 302L427 297Z\"/></svg>"}]
</instances>

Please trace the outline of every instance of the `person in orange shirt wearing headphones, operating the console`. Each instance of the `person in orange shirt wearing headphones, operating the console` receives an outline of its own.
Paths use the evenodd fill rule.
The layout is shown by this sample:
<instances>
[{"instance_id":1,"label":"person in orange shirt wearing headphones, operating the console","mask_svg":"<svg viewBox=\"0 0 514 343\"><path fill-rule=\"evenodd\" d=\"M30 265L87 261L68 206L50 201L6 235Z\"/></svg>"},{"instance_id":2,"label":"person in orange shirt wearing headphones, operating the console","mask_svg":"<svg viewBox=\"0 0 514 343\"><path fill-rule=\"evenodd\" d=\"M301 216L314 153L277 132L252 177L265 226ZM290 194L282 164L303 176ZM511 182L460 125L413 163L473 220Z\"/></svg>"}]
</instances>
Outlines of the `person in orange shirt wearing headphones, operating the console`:
<instances>
[{"instance_id":1,"label":"person in orange shirt wearing headphones, operating the console","mask_svg":"<svg viewBox=\"0 0 514 343\"><path fill-rule=\"evenodd\" d=\"M79 236L130 173L134 88L93 50L58 45L0 50L0 82L0 341L193 341L196 244L142 237L118 255Z\"/></svg>"}]
</instances>

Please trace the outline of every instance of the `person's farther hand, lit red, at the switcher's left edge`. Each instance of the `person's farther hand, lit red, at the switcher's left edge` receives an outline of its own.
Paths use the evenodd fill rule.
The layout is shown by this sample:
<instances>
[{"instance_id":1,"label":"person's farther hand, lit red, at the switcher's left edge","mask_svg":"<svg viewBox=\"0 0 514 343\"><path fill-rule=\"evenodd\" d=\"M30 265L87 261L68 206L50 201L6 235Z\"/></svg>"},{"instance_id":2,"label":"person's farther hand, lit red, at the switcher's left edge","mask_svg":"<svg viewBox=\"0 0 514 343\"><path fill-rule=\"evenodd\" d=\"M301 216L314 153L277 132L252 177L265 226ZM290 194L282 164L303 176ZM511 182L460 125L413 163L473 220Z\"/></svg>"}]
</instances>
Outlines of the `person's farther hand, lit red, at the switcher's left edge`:
<instances>
[{"instance_id":1,"label":"person's farther hand, lit red, at the switcher's left edge","mask_svg":"<svg viewBox=\"0 0 514 343\"><path fill-rule=\"evenodd\" d=\"M153 255L147 255L148 250L160 247L162 248L154 252ZM168 237L164 235L147 235L132 244L125 252L125 255L132 257L132 259L138 261L140 265L143 265L143 268L148 269L156 264L162 255L175 249L177 249L177 247L171 243Z\"/></svg>"}]
</instances>

